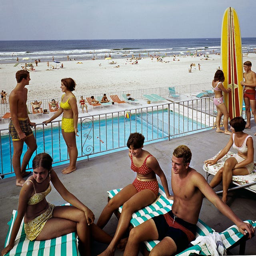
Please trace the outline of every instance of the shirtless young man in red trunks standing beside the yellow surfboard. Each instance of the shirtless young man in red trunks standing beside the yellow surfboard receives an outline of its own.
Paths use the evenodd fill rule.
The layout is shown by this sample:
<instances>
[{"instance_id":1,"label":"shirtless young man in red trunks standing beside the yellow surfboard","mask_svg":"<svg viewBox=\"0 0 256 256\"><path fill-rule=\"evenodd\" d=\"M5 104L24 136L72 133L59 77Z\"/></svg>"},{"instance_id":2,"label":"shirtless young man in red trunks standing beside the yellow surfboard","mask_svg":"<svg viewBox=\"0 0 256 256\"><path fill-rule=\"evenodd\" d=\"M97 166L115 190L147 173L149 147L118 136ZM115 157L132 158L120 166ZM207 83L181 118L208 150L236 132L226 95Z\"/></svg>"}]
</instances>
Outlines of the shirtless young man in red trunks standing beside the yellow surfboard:
<instances>
[{"instance_id":1,"label":"shirtless young man in red trunks standing beside the yellow surfboard","mask_svg":"<svg viewBox=\"0 0 256 256\"><path fill-rule=\"evenodd\" d=\"M247 123L245 128L251 128L251 111L254 116L254 121L256 122L256 99L255 99L255 87L256 87L256 73L251 70L252 62L244 62L244 82L241 81L240 84L244 86L244 104L246 108ZM256 133L254 134L256 135Z\"/></svg>"}]
</instances>

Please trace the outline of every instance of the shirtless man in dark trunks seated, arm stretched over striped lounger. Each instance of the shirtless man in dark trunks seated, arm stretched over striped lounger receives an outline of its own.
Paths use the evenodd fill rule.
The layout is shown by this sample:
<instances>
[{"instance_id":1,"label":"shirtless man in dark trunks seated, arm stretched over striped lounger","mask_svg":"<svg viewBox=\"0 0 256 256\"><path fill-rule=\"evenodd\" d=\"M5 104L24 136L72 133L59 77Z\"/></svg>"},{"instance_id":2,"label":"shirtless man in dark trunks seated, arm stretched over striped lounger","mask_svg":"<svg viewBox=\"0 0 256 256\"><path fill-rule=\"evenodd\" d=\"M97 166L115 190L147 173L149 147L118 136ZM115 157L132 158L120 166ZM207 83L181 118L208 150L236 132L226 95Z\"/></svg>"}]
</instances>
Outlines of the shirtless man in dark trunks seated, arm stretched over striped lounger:
<instances>
[{"instance_id":1,"label":"shirtless man in dark trunks seated, arm stretched over striped lounger","mask_svg":"<svg viewBox=\"0 0 256 256\"><path fill-rule=\"evenodd\" d=\"M172 255L184 250L194 240L196 223L204 196L222 214L239 228L242 234L248 231L252 238L254 228L242 222L236 214L215 194L204 177L189 166L191 151L187 146L178 146L172 155L172 211L143 222L130 232L124 256L138 255L140 242L161 240L150 255Z\"/></svg>"}]
</instances>

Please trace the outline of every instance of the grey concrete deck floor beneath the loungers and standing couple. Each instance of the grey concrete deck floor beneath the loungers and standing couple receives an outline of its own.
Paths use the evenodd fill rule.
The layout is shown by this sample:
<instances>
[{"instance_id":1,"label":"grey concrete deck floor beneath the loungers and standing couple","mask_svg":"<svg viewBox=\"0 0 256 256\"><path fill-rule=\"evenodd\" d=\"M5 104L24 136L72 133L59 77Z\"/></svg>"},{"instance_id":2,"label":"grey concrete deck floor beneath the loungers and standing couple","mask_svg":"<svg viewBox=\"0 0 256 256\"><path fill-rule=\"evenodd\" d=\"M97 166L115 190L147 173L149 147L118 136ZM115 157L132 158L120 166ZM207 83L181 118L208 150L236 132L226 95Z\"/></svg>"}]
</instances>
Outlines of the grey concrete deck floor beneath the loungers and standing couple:
<instances>
[{"instance_id":1,"label":"grey concrete deck floor beneath the loungers and standing couple","mask_svg":"<svg viewBox=\"0 0 256 256\"><path fill-rule=\"evenodd\" d=\"M254 121L252 120L252 129L246 129L245 132L252 135L256 130ZM253 136L254 137L254 136ZM164 170L169 187L170 186L170 168L171 156L176 146L185 144L192 151L192 161L190 166L195 168L204 177L205 173L202 169L204 160L214 156L228 142L229 136L216 133L215 130L207 130L198 132L188 136L174 138L170 141L155 142L144 146L151 154L153 154L160 166ZM256 140L256 137L254 137ZM254 160L256 152L254 152ZM103 156L90 158L89 161L82 160L77 162L77 170L72 174L61 174L63 166L57 166L54 170L57 172L60 180L78 199L88 206L95 214L96 221L107 202L107 190L114 188L122 188L130 184L135 177L134 172L130 170L130 159L128 150L114 152ZM212 176L209 177L209 180ZM4 178L0 180L0 250L4 246L8 225L13 209L18 208L18 196L20 188L15 186L15 178ZM94 193L92 193L94 188ZM95 189L97 188L97 189ZM218 186L216 189L221 189ZM256 199L255 194L240 189L228 194L228 205L242 220L256 220ZM58 192L52 188L52 192L47 196L47 200L55 205L64 203ZM221 232L231 226L233 223L223 216L206 198L203 200L200 212L202 219L216 232ZM112 216L110 222L104 230L109 234L114 234L116 230L117 219ZM254 255L256 252L255 237L246 242L246 255ZM92 255L97 255L106 248L106 245L94 242L92 246ZM238 255L238 247L231 250L232 254ZM116 250L116 256L123 255L123 252Z\"/></svg>"}]
</instances>

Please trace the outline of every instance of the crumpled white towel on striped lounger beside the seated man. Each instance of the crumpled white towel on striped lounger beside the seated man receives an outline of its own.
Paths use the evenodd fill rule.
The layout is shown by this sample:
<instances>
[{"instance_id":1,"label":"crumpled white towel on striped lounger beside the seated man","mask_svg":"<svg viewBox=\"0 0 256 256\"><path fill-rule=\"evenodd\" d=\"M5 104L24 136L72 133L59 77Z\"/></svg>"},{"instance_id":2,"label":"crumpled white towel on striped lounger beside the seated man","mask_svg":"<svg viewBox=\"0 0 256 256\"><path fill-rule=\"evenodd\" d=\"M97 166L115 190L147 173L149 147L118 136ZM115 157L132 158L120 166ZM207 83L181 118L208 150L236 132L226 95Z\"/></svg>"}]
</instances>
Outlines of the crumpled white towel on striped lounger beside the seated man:
<instances>
[{"instance_id":1,"label":"crumpled white towel on striped lounger beside the seated man","mask_svg":"<svg viewBox=\"0 0 256 256\"><path fill-rule=\"evenodd\" d=\"M227 255L226 248L218 232L213 232L207 236L198 236L191 244L200 245L206 255Z\"/></svg>"}]
</instances>

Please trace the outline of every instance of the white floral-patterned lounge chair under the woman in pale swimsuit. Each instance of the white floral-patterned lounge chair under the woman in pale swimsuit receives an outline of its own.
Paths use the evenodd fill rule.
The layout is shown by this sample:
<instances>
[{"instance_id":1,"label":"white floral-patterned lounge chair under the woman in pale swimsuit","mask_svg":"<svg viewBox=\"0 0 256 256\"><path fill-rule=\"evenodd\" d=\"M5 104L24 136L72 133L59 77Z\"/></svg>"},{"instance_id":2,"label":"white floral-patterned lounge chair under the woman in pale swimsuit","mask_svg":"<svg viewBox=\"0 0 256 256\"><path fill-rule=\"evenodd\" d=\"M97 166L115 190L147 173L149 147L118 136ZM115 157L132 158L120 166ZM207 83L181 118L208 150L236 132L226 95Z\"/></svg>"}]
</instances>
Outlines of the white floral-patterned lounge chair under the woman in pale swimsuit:
<instances>
[{"instance_id":1,"label":"white floral-patterned lounge chair under the woman in pale swimsuit","mask_svg":"<svg viewBox=\"0 0 256 256\"><path fill-rule=\"evenodd\" d=\"M220 152L218 152L218 154L220 154ZM216 156L218 156L218 154L216 154ZM218 172L218 170L220 170L220 168L224 166L224 163L227 160L227 158L232 157L233 155L234 153L229 151L225 156L223 156L220 160L218 160L216 164L211 166L209 165L206 166L204 164L203 169L206 172L206 180L208 180L208 177L210 175L215 175ZM213 158L216 158L216 156L214 156ZM239 188L245 188L251 192L256 193L256 162L254 162L254 170L252 171L251 174L232 176L231 182L232 184L235 185L235 187L230 188L228 191L236 190ZM216 194L220 194L220 193L222 193L222 191L216 192Z\"/></svg>"}]
</instances>

